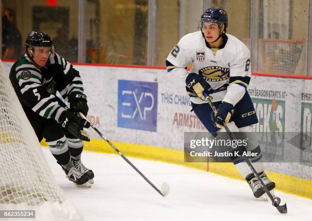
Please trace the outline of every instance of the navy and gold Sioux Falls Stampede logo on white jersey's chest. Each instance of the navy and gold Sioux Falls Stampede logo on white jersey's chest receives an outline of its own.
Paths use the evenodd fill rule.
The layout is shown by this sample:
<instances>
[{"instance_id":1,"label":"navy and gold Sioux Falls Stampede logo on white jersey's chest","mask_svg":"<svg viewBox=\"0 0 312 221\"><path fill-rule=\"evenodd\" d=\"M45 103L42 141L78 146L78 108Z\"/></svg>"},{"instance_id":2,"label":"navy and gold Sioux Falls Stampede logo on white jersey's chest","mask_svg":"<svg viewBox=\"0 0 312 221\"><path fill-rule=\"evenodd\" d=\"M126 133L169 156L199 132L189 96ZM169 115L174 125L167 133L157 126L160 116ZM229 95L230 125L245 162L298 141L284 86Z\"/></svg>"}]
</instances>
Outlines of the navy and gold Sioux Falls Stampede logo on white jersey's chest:
<instances>
[{"instance_id":1,"label":"navy and gold Sioux Falls Stampede logo on white jersey's chest","mask_svg":"<svg viewBox=\"0 0 312 221\"><path fill-rule=\"evenodd\" d=\"M221 81L229 78L229 68L222 68L219 66L204 67L198 72L207 81Z\"/></svg>"}]
</instances>

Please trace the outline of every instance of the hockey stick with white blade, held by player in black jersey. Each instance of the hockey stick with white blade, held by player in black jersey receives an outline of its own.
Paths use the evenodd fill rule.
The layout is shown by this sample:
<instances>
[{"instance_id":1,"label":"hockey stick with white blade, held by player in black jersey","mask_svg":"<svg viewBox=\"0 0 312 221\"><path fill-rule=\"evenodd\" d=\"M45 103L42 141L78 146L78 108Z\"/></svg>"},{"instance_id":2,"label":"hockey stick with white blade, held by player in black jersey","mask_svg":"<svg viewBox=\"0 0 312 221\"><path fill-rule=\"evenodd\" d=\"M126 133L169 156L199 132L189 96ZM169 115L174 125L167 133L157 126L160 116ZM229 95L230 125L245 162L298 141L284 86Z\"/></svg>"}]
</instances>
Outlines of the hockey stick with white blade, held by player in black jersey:
<instances>
[{"instance_id":1,"label":"hockey stick with white blade, held by player in black jersey","mask_svg":"<svg viewBox=\"0 0 312 221\"><path fill-rule=\"evenodd\" d=\"M88 121L88 119L82 114L79 112L79 115L85 119L86 121ZM90 123L90 122L89 122ZM152 182L149 181L149 179L147 179L146 176L144 176L144 174L141 173L141 171L139 171L138 168L135 167L135 165L130 161L128 160L128 158L126 158L107 138L105 135L103 135L92 123L90 123L92 129L100 136L102 137L103 140L105 140L129 165L131 165L131 167L133 169L135 169L140 175L141 177L144 178L144 180L146 182L148 182L149 185L151 185L160 195L162 195L163 197L166 197L169 193L169 190L170 190L170 186L168 183L166 182L163 182L162 183L162 187L161 189L157 188Z\"/></svg>"}]
</instances>

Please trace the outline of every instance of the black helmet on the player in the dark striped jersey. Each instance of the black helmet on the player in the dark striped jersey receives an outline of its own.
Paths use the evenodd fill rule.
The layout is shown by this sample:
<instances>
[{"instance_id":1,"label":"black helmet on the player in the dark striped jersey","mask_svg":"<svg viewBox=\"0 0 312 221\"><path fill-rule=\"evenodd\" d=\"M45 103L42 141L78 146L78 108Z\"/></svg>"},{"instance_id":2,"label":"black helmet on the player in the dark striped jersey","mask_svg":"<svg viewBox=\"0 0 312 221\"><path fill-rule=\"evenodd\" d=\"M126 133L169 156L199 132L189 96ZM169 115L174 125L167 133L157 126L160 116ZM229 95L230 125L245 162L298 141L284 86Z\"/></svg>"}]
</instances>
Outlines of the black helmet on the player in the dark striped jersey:
<instances>
[{"instance_id":1,"label":"black helmet on the player in the dark striped jersey","mask_svg":"<svg viewBox=\"0 0 312 221\"><path fill-rule=\"evenodd\" d=\"M45 32L30 32L25 40L25 50L28 54L28 48L33 49L34 47L51 47L51 52L54 53L54 46L51 37Z\"/></svg>"}]
</instances>

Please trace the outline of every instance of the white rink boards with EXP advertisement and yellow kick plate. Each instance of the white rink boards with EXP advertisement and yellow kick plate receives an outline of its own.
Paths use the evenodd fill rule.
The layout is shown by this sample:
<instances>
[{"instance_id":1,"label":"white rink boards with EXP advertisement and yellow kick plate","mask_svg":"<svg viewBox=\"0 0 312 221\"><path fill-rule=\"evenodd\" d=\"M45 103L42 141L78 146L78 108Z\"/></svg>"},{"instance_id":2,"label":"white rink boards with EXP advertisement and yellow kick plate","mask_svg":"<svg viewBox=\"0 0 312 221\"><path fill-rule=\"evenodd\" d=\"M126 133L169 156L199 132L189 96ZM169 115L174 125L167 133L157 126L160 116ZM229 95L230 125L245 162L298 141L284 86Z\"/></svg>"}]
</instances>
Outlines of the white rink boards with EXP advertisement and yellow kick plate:
<instances>
[{"instance_id":1,"label":"white rink boards with EXP advertisement and yellow kick plate","mask_svg":"<svg viewBox=\"0 0 312 221\"><path fill-rule=\"evenodd\" d=\"M4 62L7 70L12 63ZM184 132L205 131L179 80L161 68L75 65L88 96L88 119L126 156L183 164L242 179L231 163L184 162ZM258 118L283 133L311 133L312 80L252 76L248 88ZM209 116L210 117L210 116ZM112 152L96 133L86 149ZM296 145L293 147L298 149ZM308 148L311 148L309 146ZM299 149L298 149L299 151ZM312 199L312 168L268 163L280 190Z\"/></svg>"}]
</instances>

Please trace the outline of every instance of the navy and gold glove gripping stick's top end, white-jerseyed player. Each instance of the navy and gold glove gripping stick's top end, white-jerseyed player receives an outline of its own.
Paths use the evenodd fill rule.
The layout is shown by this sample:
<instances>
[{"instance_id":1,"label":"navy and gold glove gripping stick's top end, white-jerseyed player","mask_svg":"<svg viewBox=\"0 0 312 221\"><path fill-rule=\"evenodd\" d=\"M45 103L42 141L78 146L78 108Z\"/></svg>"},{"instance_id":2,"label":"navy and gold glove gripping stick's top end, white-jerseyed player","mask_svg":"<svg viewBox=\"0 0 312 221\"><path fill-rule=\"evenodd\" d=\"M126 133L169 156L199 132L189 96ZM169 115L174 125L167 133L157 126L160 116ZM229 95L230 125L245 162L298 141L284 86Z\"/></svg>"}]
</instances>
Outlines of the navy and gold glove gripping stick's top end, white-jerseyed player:
<instances>
[{"instance_id":1,"label":"navy and gold glove gripping stick's top end, white-jerseyed player","mask_svg":"<svg viewBox=\"0 0 312 221\"><path fill-rule=\"evenodd\" d=\"M199 74L196 73L190 73L186 80L187 87L197 95L202 100L206 100L205 96L203 95L203 92L206 92L208 94L213 94L214 90L211 88L211 86L207 83L207 81Z\"/></svg>"}]
</instances>

